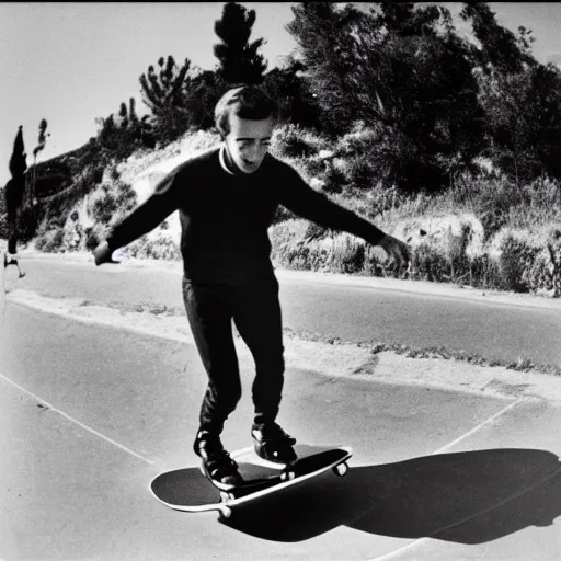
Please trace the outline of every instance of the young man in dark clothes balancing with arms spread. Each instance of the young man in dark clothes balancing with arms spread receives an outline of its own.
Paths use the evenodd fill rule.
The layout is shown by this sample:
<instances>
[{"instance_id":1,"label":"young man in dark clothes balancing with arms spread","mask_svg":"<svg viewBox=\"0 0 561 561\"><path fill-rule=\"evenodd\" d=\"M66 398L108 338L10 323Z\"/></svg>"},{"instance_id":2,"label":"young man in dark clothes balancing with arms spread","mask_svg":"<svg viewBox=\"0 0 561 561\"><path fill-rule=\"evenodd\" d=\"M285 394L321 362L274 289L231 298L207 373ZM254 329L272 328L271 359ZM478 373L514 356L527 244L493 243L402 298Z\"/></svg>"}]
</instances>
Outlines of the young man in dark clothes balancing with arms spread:
<instances>
[{"instance_id":1,"label":"young man in dark clothes balancing with arms spread","mask_svg":"<svg viewBox=\"0 0 561 561\"><path fill-rule=\"evenodd\" d=\"M401 265L409 261L405 243L317 193L293 168L267 153L276 111L275 102L256 87L228 91L215 110L222 145L171 171L94 250L96 265L111 262L113 251L179 209L183 299L208 374L194 450L218 486L241 482L220 442L224 424L241 397L232 320L255 362L255 450L275 462L296 460L296 439L275 422L285 364L267 229L277 206L380 245Z\"/></svg>"}]
</instances>

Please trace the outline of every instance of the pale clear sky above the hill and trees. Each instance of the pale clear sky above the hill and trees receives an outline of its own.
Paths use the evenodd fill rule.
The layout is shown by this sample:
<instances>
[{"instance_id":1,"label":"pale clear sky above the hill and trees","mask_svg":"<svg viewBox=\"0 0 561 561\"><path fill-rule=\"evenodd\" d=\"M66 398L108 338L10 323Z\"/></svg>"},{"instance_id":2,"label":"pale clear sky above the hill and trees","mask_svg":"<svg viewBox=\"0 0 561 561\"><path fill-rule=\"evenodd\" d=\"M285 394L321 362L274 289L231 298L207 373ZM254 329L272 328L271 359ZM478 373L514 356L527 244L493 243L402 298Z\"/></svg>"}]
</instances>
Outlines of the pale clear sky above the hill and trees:
<instances>
[{"instance_id":1,"label":"pale clear sky above the hill and trees","mask_svg":"<svg viewBox=\"0 0 561 561\"><path fill-rule=\"evenodd\" d=\"M295 2L238 2L255 10L251 41L265 38L270 68L296 48L286 31ZM461 2L431 2L457 14ZM366 7L366 3L362 3ZM561 3L489 2L501 25L534 32L535 57L561 62ZM135 98L139 77L158 58L185 58L214 69L215 21L224 2L2 2L0 3L0 185L10 179L8 162L18 126L23 125L27 164L33 163L42 118L48 123L39 161L79 148L95 136L95 119ZM461 31L459 28L459 31Z\"/></svg>"}]
</instances>

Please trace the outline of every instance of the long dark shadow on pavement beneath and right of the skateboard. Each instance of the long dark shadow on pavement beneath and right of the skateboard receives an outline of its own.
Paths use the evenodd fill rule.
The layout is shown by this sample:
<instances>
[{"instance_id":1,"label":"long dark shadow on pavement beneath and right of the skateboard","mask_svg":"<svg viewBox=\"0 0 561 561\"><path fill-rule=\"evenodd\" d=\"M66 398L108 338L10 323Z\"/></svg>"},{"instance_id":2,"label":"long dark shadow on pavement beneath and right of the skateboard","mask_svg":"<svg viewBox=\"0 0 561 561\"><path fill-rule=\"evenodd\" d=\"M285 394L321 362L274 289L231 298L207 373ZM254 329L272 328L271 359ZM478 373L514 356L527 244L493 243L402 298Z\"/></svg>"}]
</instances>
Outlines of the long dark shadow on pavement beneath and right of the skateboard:
<instances>
[{"instance_id":1,"label":"long dark shadow on pavement beneath and right of the skateboard","mask_svg":"<svg viewBox=\"0 0 561 561\"><path fill-rule=\"evenodd\" d=\"M337 526L398 538L484 543L561 515L561 463L549 451L490 449L328 472L234 508L224 524L274 541Z\"/></svg>"}]
</instances>

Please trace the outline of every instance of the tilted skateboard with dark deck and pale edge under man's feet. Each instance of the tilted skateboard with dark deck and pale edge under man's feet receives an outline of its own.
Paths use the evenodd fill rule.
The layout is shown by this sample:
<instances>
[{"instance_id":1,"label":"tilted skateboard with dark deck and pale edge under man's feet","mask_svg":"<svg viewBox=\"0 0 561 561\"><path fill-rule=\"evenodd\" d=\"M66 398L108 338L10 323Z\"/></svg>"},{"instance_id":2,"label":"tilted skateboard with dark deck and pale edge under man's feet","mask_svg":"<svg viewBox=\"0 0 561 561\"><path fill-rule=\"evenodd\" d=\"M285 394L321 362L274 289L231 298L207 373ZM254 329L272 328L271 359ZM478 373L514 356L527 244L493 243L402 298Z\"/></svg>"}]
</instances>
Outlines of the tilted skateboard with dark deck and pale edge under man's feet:
<instances>
[{"instance_id":1,"label":"tilted skateboard with dark deck and pale edge under man's feet","mask_svg":"<svg viewBox=\"0 0 561 561\"><path fill-rule=\"evenodd\" d=\"M330 469L340 477L347 470L353 455L347 446L296 445L298 459L291 466L274 465L262 460L253 448L233 451L231 457L245 484L230 491L215 486L199 468L165 471L150 483L152 494L170 508L197 513L218 511L220 519L230 518L232 510L250 501L302 484Z\"/></svg>"}]
</instances>

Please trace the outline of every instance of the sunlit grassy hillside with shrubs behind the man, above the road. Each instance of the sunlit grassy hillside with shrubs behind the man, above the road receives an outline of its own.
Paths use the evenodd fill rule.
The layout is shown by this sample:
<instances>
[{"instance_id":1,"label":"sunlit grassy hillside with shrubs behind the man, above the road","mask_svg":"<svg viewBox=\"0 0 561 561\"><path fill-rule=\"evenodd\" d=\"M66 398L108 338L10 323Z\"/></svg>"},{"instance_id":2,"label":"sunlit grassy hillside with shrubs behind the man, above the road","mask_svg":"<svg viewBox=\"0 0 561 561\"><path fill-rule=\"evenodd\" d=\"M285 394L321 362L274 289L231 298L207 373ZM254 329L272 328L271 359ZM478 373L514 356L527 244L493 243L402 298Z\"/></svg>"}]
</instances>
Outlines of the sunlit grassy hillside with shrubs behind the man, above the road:
<instances>
[{"instance_id":1,"label":"sunlit grassy hillside with shrubs behind the man, above the road","mask_svg":"<svg viewBox=\"0 0 561 561\"><path fill-rule=\"evenodd\" d=\"M285 126L272 153L294 165L328 196L409 241L414 257L408 278L561 295L561 191L543 179L514 185L481 169L455 179L439 195L404 196L376 183L362 147L368 130L336 141ZM116 161L94 144L37 167L39 204L22 218L25 238L48 252L91 250L103 230L142 202L174 165L217 146L205 131ZM0 208L1 211L1 208ZM133 242L124 253L180 259L179 219ZM353 236L327 231L279 209L270 229L273 260L287 268L391 276L383 253Z\"/></svg>"}]
</instances>

